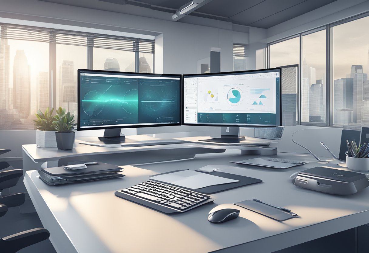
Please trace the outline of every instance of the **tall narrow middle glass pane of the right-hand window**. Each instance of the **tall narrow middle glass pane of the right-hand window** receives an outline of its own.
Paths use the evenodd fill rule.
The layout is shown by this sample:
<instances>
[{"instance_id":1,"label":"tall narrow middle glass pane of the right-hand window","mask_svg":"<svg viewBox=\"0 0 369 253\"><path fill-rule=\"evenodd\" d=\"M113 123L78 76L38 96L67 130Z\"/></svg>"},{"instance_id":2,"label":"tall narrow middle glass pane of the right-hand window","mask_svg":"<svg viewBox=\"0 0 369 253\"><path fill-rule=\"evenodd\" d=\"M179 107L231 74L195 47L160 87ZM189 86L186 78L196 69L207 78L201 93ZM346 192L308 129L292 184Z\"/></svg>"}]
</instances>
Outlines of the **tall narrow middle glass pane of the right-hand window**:
<instances>
[{"instance_id":1,"label":"tall narrow middle glass pane of the right-hand window","mask_svg":"<svg viewBox=\"0 0 369 253\"><path fill-rule=\"evenodd\" d=\"M326 122L325 37L325 30L302 37L302 122Z\"/></svg>"}]
</instances>

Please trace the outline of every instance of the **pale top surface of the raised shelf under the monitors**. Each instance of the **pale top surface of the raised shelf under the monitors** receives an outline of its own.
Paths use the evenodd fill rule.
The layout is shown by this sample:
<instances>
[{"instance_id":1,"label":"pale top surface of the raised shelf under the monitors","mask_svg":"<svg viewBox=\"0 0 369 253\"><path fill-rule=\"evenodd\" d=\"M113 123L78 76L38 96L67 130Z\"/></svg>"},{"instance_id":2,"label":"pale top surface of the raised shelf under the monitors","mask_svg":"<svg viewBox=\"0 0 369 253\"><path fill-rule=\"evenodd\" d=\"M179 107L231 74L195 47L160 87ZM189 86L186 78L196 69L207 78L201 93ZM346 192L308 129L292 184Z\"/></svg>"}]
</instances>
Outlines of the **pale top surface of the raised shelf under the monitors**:
<instances>
[{"instance_id":1,"label":"pale top surface of the raised shelf under the monitors","mask_svg":"<svg viewBox=\"0 0 369 253\"><path fill-rule=\"evenodd\" d=\"M150 140L158 140L157 138L152 138L148 135L133 135L127 136L127 138L134 139L136 141L150 141ZM200 139L208 139L210 136L195 136L195 137L185 137L185 138L177 138L185 141L198 142ZM268 139L258 139L247 137L248 140L242 141L241 143L250 144L250 143L270 143L276 142L275 140ZM111 148L104 146L90 146L79 144L79 142L89 142L89 141L98 141L96 136L93 137L81 137L81 139L76 139L75 145L73 149L69 150L61 150L58 148L38 148L36 144L26 144L22 145L22 149L34 162L46 162L50 160L57 160L60 158L71 157L76 155L86 155L86 154L114 154L114 153L124 153L124 152L137 152L137 151L147 151L152 149L172 149L172 148L197 148L197 147L207 147L212 149L224 149L225 146L229 149L249 149L247 146L232 146L230 144L218 144L217 143L207 143L207 142L198 142L198 143L183 143L183 144L168 144L168 145L154 145L154 146L141 146L141 147L125 147L125 148ZM211 145L212 144L212 145Z\"/></svg>"}]
</instances>

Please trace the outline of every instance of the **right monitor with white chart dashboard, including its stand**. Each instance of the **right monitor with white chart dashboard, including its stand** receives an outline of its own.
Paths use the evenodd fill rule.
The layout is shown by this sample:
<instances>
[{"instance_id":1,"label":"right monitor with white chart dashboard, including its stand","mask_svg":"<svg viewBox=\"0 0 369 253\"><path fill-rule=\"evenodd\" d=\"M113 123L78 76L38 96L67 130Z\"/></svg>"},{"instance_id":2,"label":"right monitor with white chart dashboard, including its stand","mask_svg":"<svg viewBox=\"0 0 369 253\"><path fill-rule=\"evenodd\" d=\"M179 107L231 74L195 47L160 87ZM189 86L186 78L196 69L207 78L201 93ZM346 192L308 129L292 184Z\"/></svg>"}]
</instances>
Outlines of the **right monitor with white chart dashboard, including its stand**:
<instances>
[{"instance_id":1,"label":"right monitor with white chart dashboard, including its stand","mask_svg":"<svg viewBox=\"0 0 369 253\"><path fill-rule=\"evenodd\" d=\"M183 75L183 125L220 126L221 138L245 140L239 127L281 125L281 69Z\"/></svg>"}]
</instances>

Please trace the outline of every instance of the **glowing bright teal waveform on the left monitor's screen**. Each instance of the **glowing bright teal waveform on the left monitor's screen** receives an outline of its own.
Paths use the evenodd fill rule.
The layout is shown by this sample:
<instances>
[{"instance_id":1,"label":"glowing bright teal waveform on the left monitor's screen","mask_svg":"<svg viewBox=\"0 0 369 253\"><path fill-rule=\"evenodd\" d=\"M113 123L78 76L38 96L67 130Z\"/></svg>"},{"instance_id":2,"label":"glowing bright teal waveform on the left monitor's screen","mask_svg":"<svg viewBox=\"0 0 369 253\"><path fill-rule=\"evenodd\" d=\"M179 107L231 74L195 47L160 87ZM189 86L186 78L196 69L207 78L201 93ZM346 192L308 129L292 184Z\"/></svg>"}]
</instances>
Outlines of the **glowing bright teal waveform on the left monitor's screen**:
<instances>
[{"instance_id":1,"label":"glowing bright teal waveform on the left monitor's screen","mask_svg":"<svg viewBox=\"0 0 369 253\"><path fill-rule=\"evenodd\" d=\"M138 91L122 91L120 85L111 85L104 92L90 91L82 99L83 111L91 117L99 115L106 107L109 111L123 109L128 114L138 114Z\"/></svg>"}]
</instances>

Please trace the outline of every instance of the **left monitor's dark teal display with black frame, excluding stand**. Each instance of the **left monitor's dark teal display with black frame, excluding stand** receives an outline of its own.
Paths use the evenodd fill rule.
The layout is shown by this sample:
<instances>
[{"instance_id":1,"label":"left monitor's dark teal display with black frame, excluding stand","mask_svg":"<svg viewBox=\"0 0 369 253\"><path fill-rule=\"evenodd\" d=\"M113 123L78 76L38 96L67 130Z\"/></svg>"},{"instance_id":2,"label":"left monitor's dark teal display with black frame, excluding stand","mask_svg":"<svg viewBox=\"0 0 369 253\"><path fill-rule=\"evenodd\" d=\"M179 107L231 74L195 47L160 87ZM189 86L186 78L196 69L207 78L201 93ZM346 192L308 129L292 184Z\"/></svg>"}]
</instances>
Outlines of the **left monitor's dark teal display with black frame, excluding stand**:
<instances>
[{"instance_id":1,"label":"left monitor's dark teal display with black frame, excluding stand","mask_svg":"<svg viewBox=\"0 0 369 253\"><path fill-rule=\"evenodd\" d=\"M181 75L78 70L78 130L181 124Z\"/></svg>"}]
</instances>

